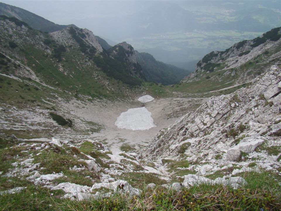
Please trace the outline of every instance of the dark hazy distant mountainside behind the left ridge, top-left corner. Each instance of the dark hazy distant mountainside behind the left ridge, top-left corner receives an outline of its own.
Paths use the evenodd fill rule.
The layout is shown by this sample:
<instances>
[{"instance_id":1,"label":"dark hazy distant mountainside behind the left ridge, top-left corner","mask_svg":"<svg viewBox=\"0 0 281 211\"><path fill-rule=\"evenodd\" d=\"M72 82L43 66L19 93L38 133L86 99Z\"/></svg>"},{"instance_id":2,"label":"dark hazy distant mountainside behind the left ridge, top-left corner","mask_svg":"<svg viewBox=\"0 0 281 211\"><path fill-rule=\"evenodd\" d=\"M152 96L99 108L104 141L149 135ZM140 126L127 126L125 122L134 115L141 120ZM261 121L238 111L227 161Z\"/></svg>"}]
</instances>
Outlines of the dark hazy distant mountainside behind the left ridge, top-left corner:
<instances>
[{"instance_id":1,"label":"dark hazy distant mountainside behind the left ridge, top-left corner","mask_svg":"<svg viewBox=\"0 0 281 211\"><path fill-rule=\"evenodd\" d=\"M27 10L24 10L19 7L11 6L8 4L4 4L0 2L0 15L6 15L8 17L15 17L25 23L27 23L31 28L34 28L36 30L40 30L43 32L54 32L58 31L64 28L67 28L69 26L75 25L59 25L55 24L51 21L46 20L45 18L42 18L34 13L31 13Z\"/></svg>"}]
</instances>

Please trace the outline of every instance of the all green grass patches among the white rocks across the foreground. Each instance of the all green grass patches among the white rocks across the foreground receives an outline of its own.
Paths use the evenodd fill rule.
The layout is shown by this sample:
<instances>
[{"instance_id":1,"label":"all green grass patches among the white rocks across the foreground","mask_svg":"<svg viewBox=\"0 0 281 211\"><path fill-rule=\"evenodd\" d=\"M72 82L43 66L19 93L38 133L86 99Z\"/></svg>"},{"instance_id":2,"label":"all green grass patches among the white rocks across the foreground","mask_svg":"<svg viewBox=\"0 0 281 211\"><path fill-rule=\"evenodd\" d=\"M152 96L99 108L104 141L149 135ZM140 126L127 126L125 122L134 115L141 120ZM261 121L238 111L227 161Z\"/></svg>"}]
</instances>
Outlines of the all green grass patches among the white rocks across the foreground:
<instances>
[{"instance_id":1,"label":"all green grass patches among the white rocks across the foreground","mask_svg":"<svg viewBox=\"0 0 281 211\"><path fill-rule=\"evenodd\" d=\"M99 177L84 169L71 171L74 165L86 166L79 159L85 159L80 152L95 156L96 161L108 168L107 154L100 152L98 145L84 142L80 147L64 148L50 145L49 149L42 150L41 154L28 146L14 146L0 148L1 171L13 168L11 163L22 158L28 158L33 153L34 163L40 162L40 173L64 172L67 177L52 181L53 184L71 182L80 185L92 186L99 182ZM26 151L28 150L28 151ZM91 152L92 151L92 152ZM27 153L28 152L28 153ZM110 153L110 152L109 152ZM74 157L76 155L76 157ZM109 162L111 162L109 160ZM169 161L168 161L169 162ZM171 169L183 167L188 164L173 163ZM95 181L88 177L90 176ZM273 172L240 173L247 185L234 190L227 186L201 184L181 191L167 190L160 186L166 182L145 173L125 173L120 176L126 179L133 187L140 188L139 196L129 197L126 194L114 194L109 198L99 200L71 201L61 198L65 193L61 190L51 191L40 185L25 181L25 177L0 177L0 191L15 187L27 187L20 193L5 194L0 197L1 210L278 210L281 205L281 186L278 184L280 176ZM148 183L154 182L157 186L153 189L145 188ZM102 191L102 190L98 190Z\"/></svg>"}]
</instances>

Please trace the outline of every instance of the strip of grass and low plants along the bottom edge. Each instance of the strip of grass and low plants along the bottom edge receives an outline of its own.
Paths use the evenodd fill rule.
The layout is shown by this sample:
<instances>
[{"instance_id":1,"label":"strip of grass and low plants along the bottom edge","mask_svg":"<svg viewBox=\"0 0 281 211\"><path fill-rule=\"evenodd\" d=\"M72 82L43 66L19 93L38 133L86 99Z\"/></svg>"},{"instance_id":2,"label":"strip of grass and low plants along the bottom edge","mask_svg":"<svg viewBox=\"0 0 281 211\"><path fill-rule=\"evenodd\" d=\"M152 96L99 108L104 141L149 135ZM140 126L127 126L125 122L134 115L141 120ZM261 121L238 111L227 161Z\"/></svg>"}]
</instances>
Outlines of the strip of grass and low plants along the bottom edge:
<instances>
[{"instance_id":1,"label":"strip of grass and low plants along the bottom edge","mask_svg":"<svg viewBox=\"0 0 281 211\"><path fill-rule=\"evenodd\" d=\"M11 183L1 178L3 183ZM13 181L20 186L20 181ZM24 183L24 182L23 182ZM25 182L26 183L26 182ZM180 192L162 187L143 190L140 196L112 195L100 200L61 199L60 190L33 184L20 193L0 197L1 210L280 210L280 192L262 189L200 185ZM10 186L11 187L11 186Z\"/></svg>"}]
</instances>

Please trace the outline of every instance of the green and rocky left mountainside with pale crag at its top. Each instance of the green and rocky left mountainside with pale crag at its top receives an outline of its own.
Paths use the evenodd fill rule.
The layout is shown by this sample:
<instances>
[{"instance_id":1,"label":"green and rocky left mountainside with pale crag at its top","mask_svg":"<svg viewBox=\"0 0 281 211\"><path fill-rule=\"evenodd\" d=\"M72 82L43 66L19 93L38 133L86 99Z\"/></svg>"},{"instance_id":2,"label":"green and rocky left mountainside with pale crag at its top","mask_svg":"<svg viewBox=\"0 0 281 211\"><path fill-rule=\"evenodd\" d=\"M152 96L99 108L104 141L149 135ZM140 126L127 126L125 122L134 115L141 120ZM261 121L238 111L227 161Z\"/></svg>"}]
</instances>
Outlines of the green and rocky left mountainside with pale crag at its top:
<instances>
[{"instance_id":1,"label":"green and rocky left mountainside with pale crag at its top","mask_svg":"<svg viewBox=\"0 0 281 211\"><path fill-rule=\"evenodd\" d=\"M118 69L116 64L121 63L104 53L97 38L87 29L70 27L46 34L14 21L13 18L1 18L3 74L30 77L76 96L98 98L124 96L123 88L120 88L124 84L116 83L115 79L130 85L140 81ZM108 65L112 67L108 68Z\"/></svg>"}]
</instances>

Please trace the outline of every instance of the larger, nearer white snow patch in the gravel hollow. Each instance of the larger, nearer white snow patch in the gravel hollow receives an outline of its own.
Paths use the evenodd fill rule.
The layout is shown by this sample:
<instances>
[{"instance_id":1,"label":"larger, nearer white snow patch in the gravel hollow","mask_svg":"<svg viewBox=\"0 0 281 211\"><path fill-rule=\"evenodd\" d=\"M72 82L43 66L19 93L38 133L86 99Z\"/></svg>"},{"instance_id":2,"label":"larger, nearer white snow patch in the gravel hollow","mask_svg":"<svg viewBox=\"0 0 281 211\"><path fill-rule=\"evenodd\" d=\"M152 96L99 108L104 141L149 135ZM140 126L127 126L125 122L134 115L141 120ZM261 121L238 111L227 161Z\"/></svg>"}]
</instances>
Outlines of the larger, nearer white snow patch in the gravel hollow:
<instances>
[{"instance_id":1,"label":"larger, nearer white snow patch in the gravel hollow","mask_svg":"<svg viewBox=\"0 0 281 211\"><path fill-rule=\"evenodd\" d=\"M120 129L128 130L148 130L151 127L156 127L153 124L151 112L145 107L130 108L126 112L121 113L115 125Z\"/></svg>"}]
</instances>

